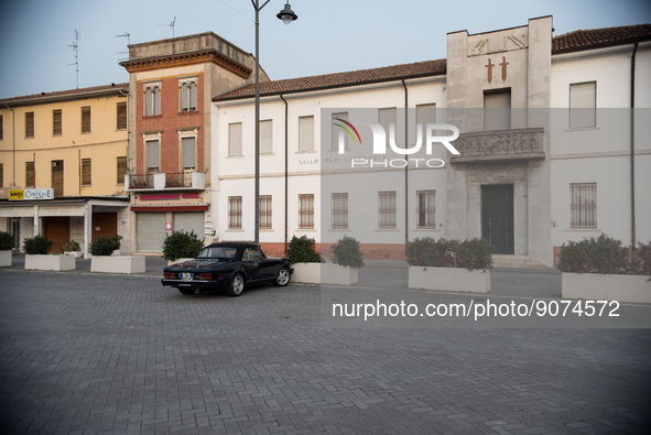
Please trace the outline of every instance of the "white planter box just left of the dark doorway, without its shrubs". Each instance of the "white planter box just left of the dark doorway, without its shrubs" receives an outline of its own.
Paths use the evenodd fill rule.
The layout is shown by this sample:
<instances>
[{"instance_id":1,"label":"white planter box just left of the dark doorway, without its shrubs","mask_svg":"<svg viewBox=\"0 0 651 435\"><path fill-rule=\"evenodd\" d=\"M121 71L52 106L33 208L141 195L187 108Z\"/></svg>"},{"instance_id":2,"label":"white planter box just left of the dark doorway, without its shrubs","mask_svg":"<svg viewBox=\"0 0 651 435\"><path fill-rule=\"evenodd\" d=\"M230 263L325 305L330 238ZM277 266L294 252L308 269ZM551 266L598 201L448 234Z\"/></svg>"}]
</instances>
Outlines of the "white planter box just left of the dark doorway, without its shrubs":
<instances>
[{"instance_id":1,"label":"white planter box just left of the dark doorway, without its shrubs","mask_svg":"<svg viewBox=\"0 0 651 435\"><path fill-rule=\"evenodd\" d=\"M465 268L409 268L410 289L442 290L448 292L490 292L490 270Z\"/></svg>"}]
</instances>

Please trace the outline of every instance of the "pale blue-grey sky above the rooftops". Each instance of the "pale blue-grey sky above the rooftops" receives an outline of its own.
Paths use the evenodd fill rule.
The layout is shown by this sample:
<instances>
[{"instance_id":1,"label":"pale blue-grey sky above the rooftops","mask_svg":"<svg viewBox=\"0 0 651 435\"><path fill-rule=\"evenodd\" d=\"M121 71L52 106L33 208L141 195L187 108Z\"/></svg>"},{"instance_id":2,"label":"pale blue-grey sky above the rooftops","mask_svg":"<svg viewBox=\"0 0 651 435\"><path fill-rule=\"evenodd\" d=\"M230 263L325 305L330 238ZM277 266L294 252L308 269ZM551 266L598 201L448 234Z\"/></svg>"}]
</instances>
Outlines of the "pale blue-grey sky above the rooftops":
<instances>
[{"instance_id":1,"label":"pale blue-grey sky above the rooftops","mask_svg":"<svg viewBox=\"0 0 651 435\"><path fill-rule=\"evenodd\" d=\"M651 23L648 0L291 0L299 19L289 25L275 18L284 3L271 0L260 12L260 65L271 79L444 58L449 32L513 28L544 15L553 15L554 35ZM256 50L251 0L0 0L0 99L127 83L119 62L128 43L172 31L213 31Z\"/></svg>"}]
</instances>

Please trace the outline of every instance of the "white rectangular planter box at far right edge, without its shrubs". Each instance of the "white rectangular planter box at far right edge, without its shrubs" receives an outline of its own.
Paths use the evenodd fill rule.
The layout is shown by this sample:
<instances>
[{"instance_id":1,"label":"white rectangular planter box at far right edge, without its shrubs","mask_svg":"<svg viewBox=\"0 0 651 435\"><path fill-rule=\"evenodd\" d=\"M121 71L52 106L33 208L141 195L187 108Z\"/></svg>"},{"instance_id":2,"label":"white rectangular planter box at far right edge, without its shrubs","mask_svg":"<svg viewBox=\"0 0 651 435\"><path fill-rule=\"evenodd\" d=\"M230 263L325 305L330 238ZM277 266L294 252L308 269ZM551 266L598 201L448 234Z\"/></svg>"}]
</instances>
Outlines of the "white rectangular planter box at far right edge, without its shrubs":
<instances>
[{"instance_id":1,"label":"white rectangular planter box at far right edge, without its shrubs","mask_svg":"<svg viewBox=\"0 0 651 435\"><path fill-rule=\"evenodd\" d=\"M563 297L651 304L651 276L563 272Z\"/></svg>"}]
</instances>

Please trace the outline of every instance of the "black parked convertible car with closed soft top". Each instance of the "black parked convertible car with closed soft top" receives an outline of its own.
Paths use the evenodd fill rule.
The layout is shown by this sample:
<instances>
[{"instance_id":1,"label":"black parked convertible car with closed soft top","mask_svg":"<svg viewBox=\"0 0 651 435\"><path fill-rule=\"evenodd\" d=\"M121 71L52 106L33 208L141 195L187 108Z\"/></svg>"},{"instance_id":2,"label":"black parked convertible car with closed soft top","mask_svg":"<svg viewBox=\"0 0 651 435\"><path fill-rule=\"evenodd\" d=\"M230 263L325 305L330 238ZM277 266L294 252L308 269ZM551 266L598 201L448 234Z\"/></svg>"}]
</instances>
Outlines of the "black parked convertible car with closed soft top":
<instances>
[{"instance_id":1,"label":"black parked convertible car with closed soft top","mask_svg":"<svg viewBox=\"0 0 651 435\"><path fill-rule=\"evenodd\" d=\"M166 267L161 282L182 294L225 290L229 296L239 296L248 284L285 286L293 272L290 260L268 258L260 244L213 243L202 249L196 259Z\"/></svg>"}]
</instances>

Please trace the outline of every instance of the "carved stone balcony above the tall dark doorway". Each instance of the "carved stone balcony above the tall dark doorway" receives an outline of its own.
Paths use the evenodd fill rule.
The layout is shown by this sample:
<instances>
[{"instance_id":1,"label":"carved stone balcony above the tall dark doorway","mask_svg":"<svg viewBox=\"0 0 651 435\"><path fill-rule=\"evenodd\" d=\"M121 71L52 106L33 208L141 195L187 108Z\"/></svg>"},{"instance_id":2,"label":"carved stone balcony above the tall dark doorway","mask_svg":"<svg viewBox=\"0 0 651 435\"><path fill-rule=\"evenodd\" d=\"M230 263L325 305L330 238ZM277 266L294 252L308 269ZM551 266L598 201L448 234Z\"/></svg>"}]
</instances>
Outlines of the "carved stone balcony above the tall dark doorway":
<instances>
[{"instance_id":1,"label":"carved stone balcony above the tall dark doorway","mask_svg":"<svg viewBox=\"0 0 651 435\"><path fill-rule=\"evenodd\" d=\"M454 141L455 163L492 163L544 160L544 129L518 129L463 133Z\"/></svg>"}]
</instances>

